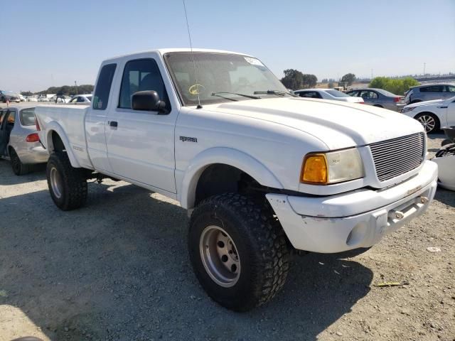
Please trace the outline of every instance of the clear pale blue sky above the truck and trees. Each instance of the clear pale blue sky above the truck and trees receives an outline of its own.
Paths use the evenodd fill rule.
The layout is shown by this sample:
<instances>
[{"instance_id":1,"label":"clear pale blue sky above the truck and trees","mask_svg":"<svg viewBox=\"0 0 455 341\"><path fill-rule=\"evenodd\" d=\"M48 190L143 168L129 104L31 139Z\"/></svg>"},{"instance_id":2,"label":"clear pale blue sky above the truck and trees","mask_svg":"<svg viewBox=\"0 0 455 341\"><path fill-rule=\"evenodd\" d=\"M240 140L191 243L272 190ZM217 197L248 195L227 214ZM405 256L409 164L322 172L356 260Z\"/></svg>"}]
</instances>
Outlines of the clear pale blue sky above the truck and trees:
<instances>
[{"instance_id":1,"label":"clear pale blue sky above the truck and trees","mask_svg":"<svg viewBox=\"0 0 455 341\"><path fill-rule=\"evenodd\" d=\"M14 6L13 6L14 4ZM255 55L278 77L455 72L455 0L186 0L193 47ZM93 84L102 60L188 47L181 0L0 0L0 90Z\"/></svg>"}]
</instances>

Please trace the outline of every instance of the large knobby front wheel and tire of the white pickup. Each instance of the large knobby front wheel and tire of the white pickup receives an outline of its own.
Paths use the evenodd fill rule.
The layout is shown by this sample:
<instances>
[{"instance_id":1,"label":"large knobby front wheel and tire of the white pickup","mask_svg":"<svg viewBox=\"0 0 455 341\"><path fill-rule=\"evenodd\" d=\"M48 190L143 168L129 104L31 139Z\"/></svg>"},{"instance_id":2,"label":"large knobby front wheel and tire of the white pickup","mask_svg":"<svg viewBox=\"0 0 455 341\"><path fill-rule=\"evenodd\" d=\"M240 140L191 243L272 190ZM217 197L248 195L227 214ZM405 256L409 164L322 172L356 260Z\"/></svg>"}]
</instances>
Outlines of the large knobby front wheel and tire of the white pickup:
<instances>
[{"instance_id":1,"label":"large knobby front wheel and tire of the white pickup","mask_svg":"<svg viewBox=\"0 0 455 341\"><path fill-rule=\"evenodd\" d=\"M201 286L235 311L271 300L289 271L289 247L277 218L239 194L215 195L196 207L188 249Z\"/></svg>"}]
</instances>

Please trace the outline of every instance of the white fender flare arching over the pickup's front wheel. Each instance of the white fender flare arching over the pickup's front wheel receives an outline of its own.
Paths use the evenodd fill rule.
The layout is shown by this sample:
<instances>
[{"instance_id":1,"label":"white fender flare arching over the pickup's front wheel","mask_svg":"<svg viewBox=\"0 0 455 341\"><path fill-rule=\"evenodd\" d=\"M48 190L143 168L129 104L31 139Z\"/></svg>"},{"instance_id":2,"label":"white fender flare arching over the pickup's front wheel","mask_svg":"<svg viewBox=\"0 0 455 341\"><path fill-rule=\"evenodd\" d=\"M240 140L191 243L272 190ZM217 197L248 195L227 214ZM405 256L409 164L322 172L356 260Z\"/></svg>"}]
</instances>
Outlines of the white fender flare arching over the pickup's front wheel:
<instances>
[{"instance_id":1,"label":"white fender flare arching over the pickup's front wheel","mask_svg":"<svg viewBox=\"0 0 455 341\"><path fill-rule=\"evenodd\" d=\"M183 175L180 191L181 207L191 209L196 200L196 186L200 175L210 165L221 163L240 169L259 184L272 188L283 188L282 183L269 169L252 156L233 148L215 147L198 153L190 161Z\"/></svg>"}]
</instances>

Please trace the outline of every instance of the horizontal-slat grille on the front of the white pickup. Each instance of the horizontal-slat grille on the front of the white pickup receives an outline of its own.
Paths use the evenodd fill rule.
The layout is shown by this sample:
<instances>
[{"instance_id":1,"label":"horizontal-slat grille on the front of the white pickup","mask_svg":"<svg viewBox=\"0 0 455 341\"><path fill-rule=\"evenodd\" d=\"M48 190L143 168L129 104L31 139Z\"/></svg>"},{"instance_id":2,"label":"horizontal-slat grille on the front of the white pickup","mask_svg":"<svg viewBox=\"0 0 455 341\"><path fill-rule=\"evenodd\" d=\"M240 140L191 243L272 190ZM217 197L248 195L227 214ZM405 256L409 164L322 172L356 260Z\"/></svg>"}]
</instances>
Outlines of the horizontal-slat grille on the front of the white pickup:
<instances>
[{"instance_id":1,"label":"horizontal-slat grille on the front of the white pickup","mask_svg":"<svg viewBox=\"0 0 455 341\"><path fill-rule=\"evenodd\" d=\"M424 133L397 137L370 144L380 181L412 171L424 161Z\"/></svg>"}]
</instances>

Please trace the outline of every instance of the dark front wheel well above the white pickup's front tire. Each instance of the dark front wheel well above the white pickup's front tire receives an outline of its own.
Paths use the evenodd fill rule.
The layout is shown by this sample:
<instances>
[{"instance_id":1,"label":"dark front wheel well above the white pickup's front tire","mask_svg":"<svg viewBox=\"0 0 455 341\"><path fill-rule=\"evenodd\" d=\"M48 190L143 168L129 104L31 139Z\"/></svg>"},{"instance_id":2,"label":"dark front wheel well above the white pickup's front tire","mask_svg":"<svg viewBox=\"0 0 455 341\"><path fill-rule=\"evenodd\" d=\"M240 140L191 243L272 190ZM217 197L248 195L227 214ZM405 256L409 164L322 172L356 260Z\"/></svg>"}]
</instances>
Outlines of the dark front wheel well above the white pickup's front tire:
<instances>
[{"instance_id":1,"label":"dark front wheel well above the white pickup's front tire","mask_svg":"<svg viewBox=\"0 0 455 341\"><path fill-rule=\"evenodd\" d=\"M242 193L255 198L266 193L252 176L233 166L215 163L205 168L196 185L195 206L212 195Z\"/></svg>"}]
</instances>

